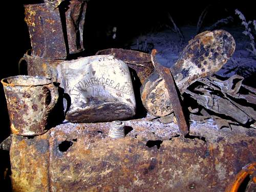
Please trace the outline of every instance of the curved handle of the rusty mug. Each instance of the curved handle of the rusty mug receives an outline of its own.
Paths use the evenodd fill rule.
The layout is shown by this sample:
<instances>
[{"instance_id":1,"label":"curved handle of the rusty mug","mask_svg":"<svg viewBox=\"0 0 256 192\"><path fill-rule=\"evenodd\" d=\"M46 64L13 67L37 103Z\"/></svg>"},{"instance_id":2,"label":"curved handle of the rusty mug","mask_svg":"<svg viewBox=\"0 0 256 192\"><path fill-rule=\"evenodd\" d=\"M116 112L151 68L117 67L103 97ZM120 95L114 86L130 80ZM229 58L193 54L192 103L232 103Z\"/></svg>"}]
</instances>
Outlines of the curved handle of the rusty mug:
<instances>
[{"instance_id":1,"label":"curved handle of the rusty mug","mask_svg":"<svg viewBox=\"0 0 256 192\"><path fill-rule=\"evenodd\" d=\"M48 90L48 93L50 93L51 101L49 104L46 102L44 103L44 113L42 114L43 118L48 116L48 113L54 108L59 98L58 87L54 86L54 84L47 84L43 86L42 92L44 93L46 89Z\"/></svg>"}]
</instances>

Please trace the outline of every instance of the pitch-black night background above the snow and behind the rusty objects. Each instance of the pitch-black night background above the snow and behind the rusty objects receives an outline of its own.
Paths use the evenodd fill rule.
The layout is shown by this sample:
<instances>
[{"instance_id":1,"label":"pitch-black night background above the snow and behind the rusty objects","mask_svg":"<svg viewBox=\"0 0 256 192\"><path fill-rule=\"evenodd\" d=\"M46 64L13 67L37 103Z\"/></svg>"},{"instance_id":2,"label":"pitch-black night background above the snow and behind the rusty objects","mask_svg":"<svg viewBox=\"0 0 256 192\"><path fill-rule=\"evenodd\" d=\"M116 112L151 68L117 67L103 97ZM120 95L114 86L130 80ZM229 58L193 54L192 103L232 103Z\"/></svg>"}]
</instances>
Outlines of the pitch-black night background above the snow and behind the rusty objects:
<instances>
[{"instance_id":1,"label":"pitch-black night background above the snow and behind the rusty objects","mask_svg":"<svg viewBox=\"0 0 256 192\"><path fill-rule=\"evenodd\" d=\"M18 61L30 49L29 33L24 22L23 4L41 1L2 1L1 2L1 69L0 79L18 75ZM84 45L86 50L81 56L95 54L106 48L123 48L124 42L147 32L157 32L162 26L169 25L167 13L172 15L178 27L197 25L198 18L205 7L210 5L203 25L210 25L221 18L233 16L231 27L241 27L241 20L234 16L239 9L247 20L255 19L253 1L97 1L88 3ZM117 27L117 38L108 35ZM2 84L0 86L0 142L9 135L9 118ZM0 186L9 186L10 181L3 180L3 173L9 164L9 152L0 150ZM9 172L10 174L10 172ZM2 184L3 183L3 184Z\"/></svg>"}]
</instances>

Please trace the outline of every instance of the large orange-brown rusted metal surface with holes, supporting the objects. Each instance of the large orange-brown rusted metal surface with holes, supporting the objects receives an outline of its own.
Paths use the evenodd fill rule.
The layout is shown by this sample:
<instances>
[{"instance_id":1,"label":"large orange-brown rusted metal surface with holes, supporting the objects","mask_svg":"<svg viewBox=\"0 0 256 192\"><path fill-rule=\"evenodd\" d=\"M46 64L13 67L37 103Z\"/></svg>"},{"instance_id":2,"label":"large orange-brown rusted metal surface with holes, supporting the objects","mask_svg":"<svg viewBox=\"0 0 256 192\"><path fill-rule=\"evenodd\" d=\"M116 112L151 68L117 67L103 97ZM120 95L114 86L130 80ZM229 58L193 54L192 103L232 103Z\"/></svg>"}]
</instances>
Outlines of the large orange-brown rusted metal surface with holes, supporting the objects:
<instances>
[{"instance_id":1,"label":"large orange-brown rusted metal surface with holes, supporting the objects","mask_svg":"<svg viewBox=\"0 0 256 192\"><path fill-rule=\"evenodd\" d=\"M64 123L44 135L13 136L14 191L224 191L256 160L254 129L218 130L195 123L190 135L148 119L126 121L123 139L108 137L110 123ZM162 141L148 147L148 140ZM66 152L59 144L71 143ZM62 150L63 151L63 150Z\"/></svg>"}]
</instances>

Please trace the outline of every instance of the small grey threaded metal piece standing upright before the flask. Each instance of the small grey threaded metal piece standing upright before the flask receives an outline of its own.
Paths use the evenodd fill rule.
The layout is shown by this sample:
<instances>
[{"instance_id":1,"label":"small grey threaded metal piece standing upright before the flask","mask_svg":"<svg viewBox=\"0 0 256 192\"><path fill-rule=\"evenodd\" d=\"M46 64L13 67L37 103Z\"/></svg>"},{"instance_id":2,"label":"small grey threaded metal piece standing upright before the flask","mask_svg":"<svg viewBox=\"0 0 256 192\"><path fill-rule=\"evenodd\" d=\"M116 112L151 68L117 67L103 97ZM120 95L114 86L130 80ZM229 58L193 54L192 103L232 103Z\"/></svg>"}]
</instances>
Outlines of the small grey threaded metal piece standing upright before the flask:
<instances>
[{"instance_id":1,"label":"small grey threaded metal piece standing upright before the flask","mask_svg":"<svg viewBox=\"0 0 256 192\"><path fill-rule=\"evenodd\" d=\"M112 121L110 124L109 136L116 139L125 137L124 126L125 123L123 121Z\"/></svg>"}]
</instances>

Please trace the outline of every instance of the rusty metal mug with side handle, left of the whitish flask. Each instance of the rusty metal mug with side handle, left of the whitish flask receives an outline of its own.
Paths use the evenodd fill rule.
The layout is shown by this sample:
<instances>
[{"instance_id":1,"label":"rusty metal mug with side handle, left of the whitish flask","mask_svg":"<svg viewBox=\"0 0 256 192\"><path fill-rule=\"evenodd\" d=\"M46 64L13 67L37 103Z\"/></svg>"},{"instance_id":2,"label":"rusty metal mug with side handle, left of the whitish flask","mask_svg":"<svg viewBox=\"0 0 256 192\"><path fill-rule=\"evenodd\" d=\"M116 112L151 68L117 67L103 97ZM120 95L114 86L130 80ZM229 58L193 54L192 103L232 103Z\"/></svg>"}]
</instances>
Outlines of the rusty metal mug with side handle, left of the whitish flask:
<instances>
[{"instance_id":1,"label":"rusty metal mug with side handle, left of the whitish flask","mask_svg":"<svg viewBox=\"0 0 256 192\"><path fill-rule=\"evenodd\" d=\"M11 132L40 135L49 130L48 116L58 100L58 87L46 77L18 75L1 80L7 100Z\"/></svg>"}]
</instances>

